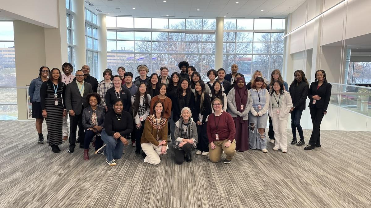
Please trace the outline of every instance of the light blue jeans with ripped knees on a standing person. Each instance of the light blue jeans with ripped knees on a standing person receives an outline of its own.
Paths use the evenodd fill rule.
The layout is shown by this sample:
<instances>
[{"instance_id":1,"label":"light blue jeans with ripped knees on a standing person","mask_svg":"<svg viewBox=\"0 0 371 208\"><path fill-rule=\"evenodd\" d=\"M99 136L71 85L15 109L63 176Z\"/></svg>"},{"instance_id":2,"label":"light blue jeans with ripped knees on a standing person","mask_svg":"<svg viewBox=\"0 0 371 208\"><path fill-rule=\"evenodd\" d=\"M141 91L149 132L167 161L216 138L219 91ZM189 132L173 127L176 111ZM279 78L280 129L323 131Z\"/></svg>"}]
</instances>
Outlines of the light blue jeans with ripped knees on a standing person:
<instances>
[{"instance_id":1,"label":"light blue jeans with ripped knees on a standing person","mask_svg":"<svg viewBox=\"0 0 371 208\"><path fill-rule=\"evenodd\" d=\"M259 110L256 108L256 112ZM255 117L249 112L249 145L250 149L263 150L267 148L267 138L266 138L266 127L267 127L268 113ZM258 129L264 129L261 134Z\"/></svg>"}]
</instances>

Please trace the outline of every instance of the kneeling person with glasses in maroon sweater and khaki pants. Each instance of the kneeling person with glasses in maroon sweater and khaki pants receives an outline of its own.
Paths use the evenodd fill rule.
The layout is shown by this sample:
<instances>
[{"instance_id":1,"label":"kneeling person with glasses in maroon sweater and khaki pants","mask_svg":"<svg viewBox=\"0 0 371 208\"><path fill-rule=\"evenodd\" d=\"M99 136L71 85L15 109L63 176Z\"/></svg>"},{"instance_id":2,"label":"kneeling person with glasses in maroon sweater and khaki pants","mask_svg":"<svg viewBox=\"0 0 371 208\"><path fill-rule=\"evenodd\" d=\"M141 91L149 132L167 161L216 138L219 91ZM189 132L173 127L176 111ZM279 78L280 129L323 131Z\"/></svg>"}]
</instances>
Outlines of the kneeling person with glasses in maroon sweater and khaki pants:
<instances>
[{"instance_id":1,"label":"kneeling person with glasses in maroon sweater and khaki pants","mask_svg":"<svg viewBox=\"0 0 371 208\"><path fill-rule=\"evenodd\" d=\"M219 162L222 152L227 155L224 163L230 163L236 153L236 127L229 113L223 111L223 104L219 98L212 102L214 114L209 115L207 122L207 137L209 139L209 158L211 162Z\"/></svg>"}]
</instances>

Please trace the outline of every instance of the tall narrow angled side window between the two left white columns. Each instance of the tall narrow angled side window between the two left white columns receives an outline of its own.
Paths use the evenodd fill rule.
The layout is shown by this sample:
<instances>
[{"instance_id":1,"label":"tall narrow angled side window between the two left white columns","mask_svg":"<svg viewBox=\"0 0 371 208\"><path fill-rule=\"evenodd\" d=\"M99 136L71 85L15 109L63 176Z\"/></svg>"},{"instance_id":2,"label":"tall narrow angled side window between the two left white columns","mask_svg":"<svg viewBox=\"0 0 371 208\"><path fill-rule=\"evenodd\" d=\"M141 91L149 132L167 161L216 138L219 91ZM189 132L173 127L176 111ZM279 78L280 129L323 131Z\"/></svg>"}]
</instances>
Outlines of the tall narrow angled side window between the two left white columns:
<instances>
[{"instance_id":1,"label":"tall narrow angled side window between the two left white columns","mask_svg":"<svg viewBox=\"0 0 371 208\"><path fill-rule=\"evenodd\" d=\"M86 61L91 75L99 77L97 15L85 8Z\"/></svg>"}]
</instances>

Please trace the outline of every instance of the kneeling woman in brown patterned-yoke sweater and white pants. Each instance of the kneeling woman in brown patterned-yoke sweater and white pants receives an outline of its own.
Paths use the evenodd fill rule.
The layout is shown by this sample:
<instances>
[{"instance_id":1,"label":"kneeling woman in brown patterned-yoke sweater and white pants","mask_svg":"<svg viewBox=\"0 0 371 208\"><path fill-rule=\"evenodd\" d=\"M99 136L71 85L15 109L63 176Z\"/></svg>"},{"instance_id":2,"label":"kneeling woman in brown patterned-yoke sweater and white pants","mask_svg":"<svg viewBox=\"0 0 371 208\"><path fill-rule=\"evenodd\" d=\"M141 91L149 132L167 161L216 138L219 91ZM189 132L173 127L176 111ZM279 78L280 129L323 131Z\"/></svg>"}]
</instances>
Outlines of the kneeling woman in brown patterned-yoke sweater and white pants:
<instances>
[{"instance_id":1,"label":"kneeling woman in brown patterned-yoke sweater and white pants","mask_svg":"<svg viewBox=\"0 0 371 208\"><path fill-rule=\"evenodd\" d=\"M144 162L157 165L161 162L160 155L165 155L167 149L167 118L164 117L164 105L156 101L153 107L155 112L147 117L141 138ZM159 142L160 141L160 142Z\"/></svg>"}]
</instances>

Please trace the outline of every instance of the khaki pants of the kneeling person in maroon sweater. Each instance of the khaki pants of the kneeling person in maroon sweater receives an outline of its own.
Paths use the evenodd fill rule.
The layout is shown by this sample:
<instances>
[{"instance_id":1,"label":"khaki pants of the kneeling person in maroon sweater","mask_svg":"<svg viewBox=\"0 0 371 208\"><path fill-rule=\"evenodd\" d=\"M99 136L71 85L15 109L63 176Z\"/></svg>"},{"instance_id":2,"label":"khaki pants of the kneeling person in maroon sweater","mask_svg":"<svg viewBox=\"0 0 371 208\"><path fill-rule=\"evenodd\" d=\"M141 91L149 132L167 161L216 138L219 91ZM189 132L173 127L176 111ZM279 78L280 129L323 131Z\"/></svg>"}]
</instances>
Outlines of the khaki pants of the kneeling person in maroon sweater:
<instances>
[{"instance_id":1,"label":"khaki pants of the kneeling person in maroon sweater","mask_svg":"<svg viewBox=\"0 0 371 208\"><path fill-rule=\"evenodd\" d=\"M232 160L234 154L236 154L236 140L233 140L229 147L224 146L226 142L228 142L228 139L214 141L214 150L211 150L211 145L209 145L209 159L211 162L219 162L223 151L227 155L227 160Z\"/></svg>"}]
</instances>

